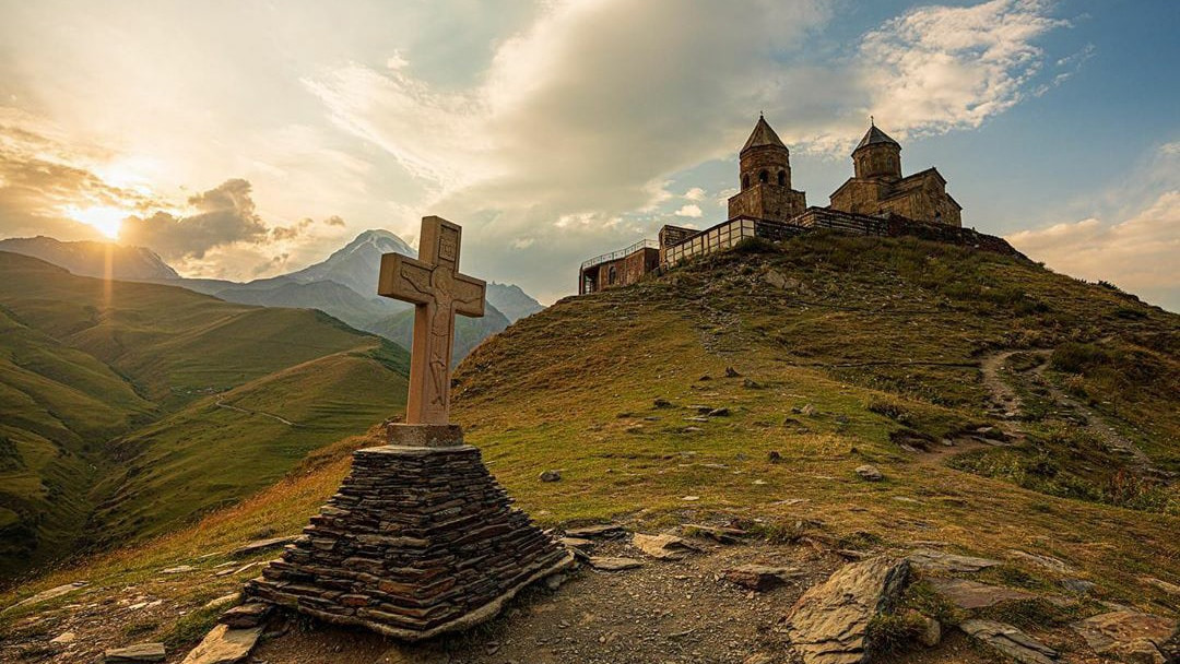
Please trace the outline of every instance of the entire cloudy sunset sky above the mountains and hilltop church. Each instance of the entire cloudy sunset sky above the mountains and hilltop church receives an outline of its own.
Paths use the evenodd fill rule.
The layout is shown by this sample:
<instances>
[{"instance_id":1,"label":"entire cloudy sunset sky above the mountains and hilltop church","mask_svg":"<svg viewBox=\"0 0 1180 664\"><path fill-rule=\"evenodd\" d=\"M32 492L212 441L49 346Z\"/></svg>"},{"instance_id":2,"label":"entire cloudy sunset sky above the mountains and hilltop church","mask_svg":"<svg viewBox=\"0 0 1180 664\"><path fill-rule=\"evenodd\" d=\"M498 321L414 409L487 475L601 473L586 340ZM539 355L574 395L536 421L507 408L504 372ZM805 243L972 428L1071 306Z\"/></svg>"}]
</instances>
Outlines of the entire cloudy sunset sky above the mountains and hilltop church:
<instances>
[{"instance_id":1,"label":"entire cloudy sunset sky above the mountains and hilltop church","mask_svg":"<svg viewBox=\"0 0 1180 664\"><path fill-rule=\"evenodd\" d=\"M963 222L1180 311L1180 2L0 0L0 237L245 281L464 226L542 302L708 228L759 112L811 205L873 116Z\"/></svg>"}]
</instances>

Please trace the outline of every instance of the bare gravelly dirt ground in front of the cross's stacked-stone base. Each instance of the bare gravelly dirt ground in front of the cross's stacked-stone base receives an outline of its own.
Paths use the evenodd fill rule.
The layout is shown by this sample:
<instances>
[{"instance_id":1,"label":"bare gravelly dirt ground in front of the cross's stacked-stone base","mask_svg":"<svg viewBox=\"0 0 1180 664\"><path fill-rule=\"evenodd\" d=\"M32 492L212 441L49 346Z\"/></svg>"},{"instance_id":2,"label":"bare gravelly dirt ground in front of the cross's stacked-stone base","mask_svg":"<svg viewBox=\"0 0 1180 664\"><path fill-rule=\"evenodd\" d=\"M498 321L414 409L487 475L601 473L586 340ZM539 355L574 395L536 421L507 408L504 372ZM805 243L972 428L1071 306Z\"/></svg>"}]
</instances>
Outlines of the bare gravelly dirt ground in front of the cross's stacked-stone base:
<instances>
[{"instance_id":1,"label":"bare gravelly dirt ground in front of the cross's stacked-stone base","mask_svg":"<svg viewBox=\"0 0 1180 664\"><path fill-rule=\"evenodd\" d=\"M793 662L775 626L804 589L844 560L809 546L709 545L682 560L644 558L622 541L595 554L627 555L643 566L620 572L583 567L556 592L537 587L471 633L399 645L368 632L291 620L289 631L254 657L283 663L666 664ZM743 564L796 567L806 574L767 592L721 579Z\"/></svg>"}]
</instances>

